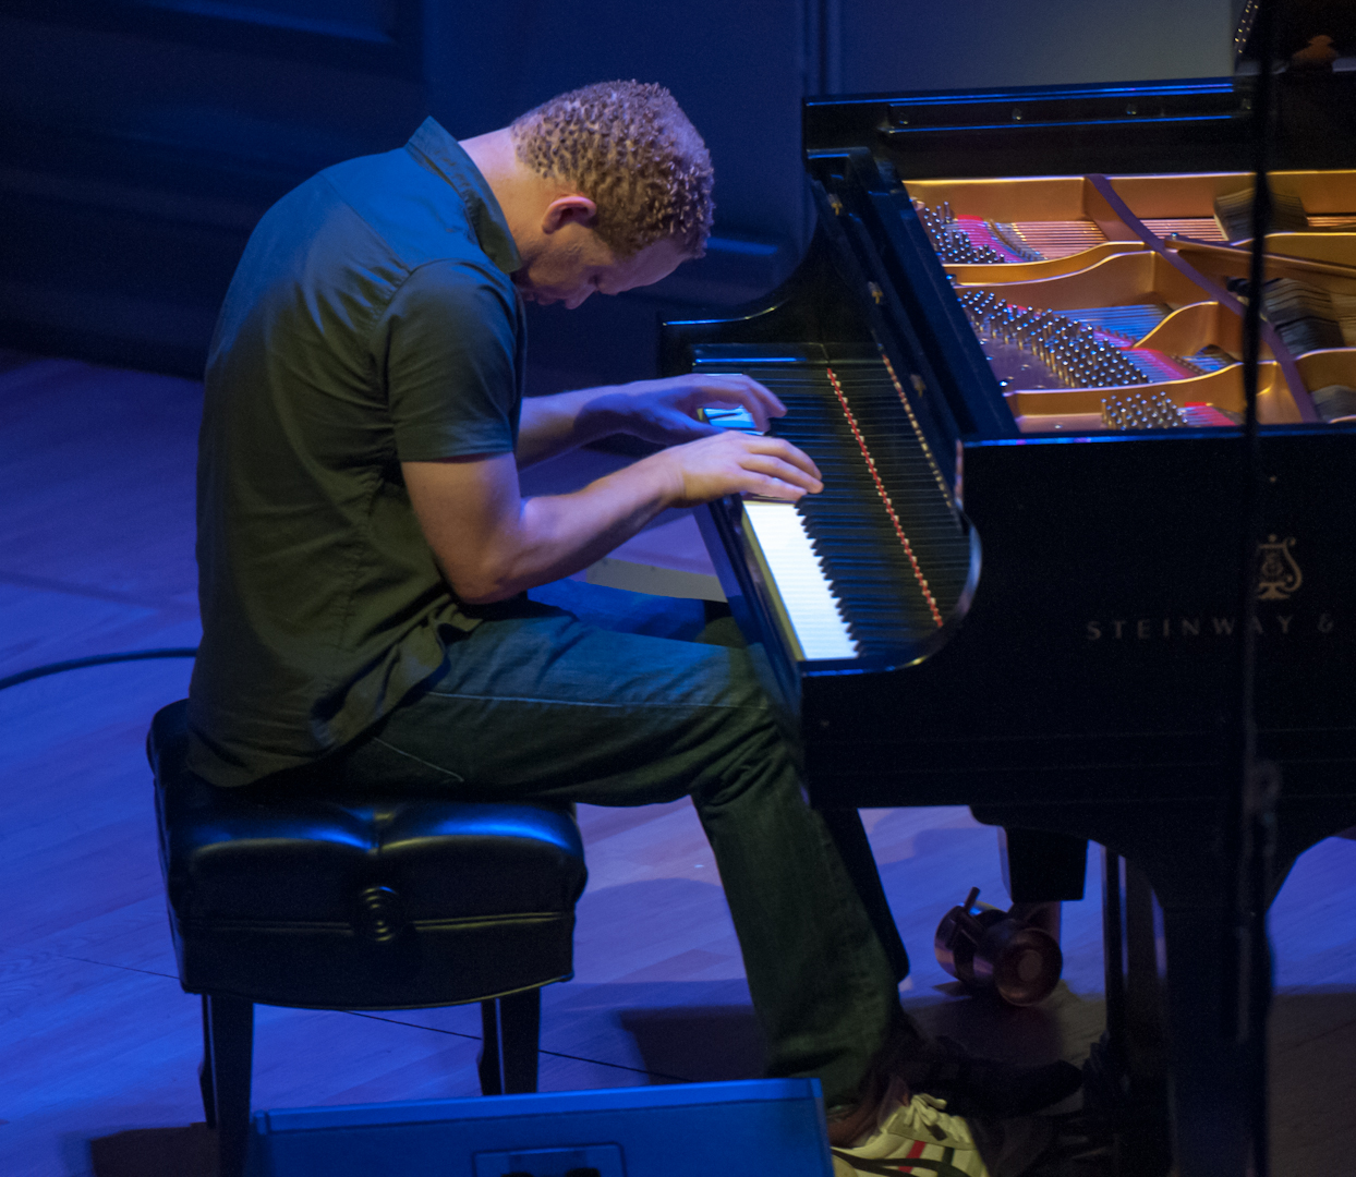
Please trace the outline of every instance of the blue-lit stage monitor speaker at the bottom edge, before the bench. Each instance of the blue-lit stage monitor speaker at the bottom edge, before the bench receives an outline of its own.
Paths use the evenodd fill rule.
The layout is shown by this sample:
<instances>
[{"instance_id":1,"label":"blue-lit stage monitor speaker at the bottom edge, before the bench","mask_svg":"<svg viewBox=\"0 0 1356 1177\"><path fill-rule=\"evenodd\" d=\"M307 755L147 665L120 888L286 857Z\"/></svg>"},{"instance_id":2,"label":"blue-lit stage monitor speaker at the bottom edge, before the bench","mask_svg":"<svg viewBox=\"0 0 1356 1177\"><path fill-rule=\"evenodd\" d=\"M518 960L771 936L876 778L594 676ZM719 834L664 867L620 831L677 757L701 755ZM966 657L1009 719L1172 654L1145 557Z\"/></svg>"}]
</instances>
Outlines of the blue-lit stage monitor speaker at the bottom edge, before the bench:
<instances>
[{"instance_id":1,"label":"blue-lit stage monitor speaker at the bottom edge, before the bench","mask_svg":"<svg viewBox=\"0 0 1356 1177\"><path fill-rule=\"evenodd\" d=\"M248 1177L831 1177L818 1079L258 1112Z\"/></svg>"}]
</instances>

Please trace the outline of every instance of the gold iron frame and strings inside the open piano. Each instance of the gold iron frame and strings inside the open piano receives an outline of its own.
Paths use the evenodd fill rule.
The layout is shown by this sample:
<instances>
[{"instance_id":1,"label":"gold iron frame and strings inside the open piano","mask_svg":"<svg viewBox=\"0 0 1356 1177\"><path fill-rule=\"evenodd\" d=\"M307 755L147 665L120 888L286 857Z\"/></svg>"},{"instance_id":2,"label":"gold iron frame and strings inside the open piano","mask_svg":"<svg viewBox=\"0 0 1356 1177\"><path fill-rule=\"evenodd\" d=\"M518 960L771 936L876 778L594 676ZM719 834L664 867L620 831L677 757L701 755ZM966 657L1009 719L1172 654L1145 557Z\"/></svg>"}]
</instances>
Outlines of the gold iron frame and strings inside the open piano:
<instances>
[{"instance_id":1,"label":"gold iron frame and strings inside the open piano","mask_svg":"<svg viewBox=\"0 0 1356 1177\"><path fill-rule=\"evenodd\" d=\"M1333 422L1356 399L1356 171L1271 186L1258 415ZM1242 420L1250 175L906 187L1022 433Z\"/></svg>"}]
</instances>

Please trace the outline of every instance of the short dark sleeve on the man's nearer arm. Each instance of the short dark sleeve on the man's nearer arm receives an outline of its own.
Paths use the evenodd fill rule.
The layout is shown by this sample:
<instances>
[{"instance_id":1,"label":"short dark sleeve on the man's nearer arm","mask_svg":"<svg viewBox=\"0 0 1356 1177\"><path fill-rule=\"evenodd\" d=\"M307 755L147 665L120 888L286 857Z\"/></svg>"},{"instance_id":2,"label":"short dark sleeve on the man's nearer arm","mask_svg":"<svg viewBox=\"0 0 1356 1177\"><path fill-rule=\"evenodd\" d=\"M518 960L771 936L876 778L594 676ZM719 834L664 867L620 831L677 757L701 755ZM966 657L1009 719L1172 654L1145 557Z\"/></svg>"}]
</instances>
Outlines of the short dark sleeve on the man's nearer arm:
<instances>
[{"instance_id":1,"label":"short dark sleeve on the man's nearer arm","mask_svg":"<svg viewBox=\"0 0 1356 1177\"><path fill-rule=\"evenodd\" d=\"M378 363L401 461L513 452L521 325L506 286L488 266L430 262L391 300Z\"/></svg>"}]
</instances>

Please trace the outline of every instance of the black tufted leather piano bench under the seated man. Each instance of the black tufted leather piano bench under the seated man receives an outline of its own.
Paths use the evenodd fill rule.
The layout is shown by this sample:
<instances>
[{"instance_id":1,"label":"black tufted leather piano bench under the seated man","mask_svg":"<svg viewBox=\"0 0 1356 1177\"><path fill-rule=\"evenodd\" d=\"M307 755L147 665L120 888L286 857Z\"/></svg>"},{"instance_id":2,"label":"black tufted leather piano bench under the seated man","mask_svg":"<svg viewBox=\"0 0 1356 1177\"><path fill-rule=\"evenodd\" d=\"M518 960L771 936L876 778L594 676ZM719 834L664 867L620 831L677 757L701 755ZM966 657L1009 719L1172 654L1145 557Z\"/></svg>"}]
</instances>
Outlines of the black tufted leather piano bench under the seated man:
<instances>
[{"instance_id":1,"label":"black tufted leather piano bench under the seated man","mask_svg":"<svg viewBox=\"0 0 1356 1177\"><path fill-rule=\"evenodd\" d=\"M568 810L221 789L187 770L187 701L156 713L160 865L179 980L202 995L199 1069L220 1177L240 1177L254 1005L479 1001L485 1094L537 1088L541 986L574 971L583 845ZM502 1063L500 1063L502 1060Z\"/></svg>"}]
</instances>

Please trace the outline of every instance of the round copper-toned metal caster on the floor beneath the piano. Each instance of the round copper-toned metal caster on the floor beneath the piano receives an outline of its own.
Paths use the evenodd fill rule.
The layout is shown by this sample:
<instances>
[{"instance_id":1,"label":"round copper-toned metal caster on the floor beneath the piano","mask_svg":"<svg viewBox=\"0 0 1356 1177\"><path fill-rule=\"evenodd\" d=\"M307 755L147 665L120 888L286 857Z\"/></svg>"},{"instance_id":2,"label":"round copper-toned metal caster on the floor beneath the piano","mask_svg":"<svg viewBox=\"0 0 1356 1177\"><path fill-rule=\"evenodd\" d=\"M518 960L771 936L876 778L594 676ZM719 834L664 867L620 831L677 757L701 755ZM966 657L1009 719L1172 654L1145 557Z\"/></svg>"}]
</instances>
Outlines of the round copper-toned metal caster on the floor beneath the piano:
<instances>
[{"instance_id":1,"label":"round copper-toned metal caster on the floor beneath the piano","mask_svg":"<svg viewBox=\"0 0 1356 1177\"><path fill-rule=\"evenodd\" d=\"M972 887L937 925L937 963L965 989L997 993L1008 1005L1044 1001L1064 968L1059 941L1035 921L1024 922L1016 907L1003 911L978 898L979 888Z\"/></svg>"}]
</instances>

